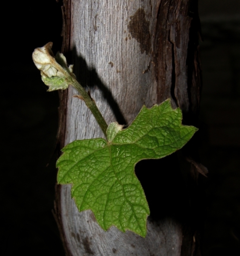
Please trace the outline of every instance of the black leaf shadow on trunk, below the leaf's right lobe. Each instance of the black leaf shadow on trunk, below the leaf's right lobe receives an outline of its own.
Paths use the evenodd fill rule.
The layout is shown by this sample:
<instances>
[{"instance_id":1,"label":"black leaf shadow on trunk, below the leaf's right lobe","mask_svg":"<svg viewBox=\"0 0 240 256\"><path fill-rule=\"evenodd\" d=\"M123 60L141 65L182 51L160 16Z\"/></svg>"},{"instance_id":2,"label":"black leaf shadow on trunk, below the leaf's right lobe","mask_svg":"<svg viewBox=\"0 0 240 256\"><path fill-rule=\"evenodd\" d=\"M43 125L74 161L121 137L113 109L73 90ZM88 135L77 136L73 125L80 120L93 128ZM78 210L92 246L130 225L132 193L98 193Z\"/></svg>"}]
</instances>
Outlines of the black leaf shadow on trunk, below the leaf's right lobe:
<instances>
[{"instance_id":1,"label":"black leaf shadow on trunk, below the leaf's right lobe","mask_svg":"<svg viewBox=\"0 0 240 256\"><path fill-rule=\"evenodd\" d=\"M135 166L135 173L145 191L151 221L170 217L182 222L187 205L177 154L142 160Z\"/></svg>"}]
</instances>

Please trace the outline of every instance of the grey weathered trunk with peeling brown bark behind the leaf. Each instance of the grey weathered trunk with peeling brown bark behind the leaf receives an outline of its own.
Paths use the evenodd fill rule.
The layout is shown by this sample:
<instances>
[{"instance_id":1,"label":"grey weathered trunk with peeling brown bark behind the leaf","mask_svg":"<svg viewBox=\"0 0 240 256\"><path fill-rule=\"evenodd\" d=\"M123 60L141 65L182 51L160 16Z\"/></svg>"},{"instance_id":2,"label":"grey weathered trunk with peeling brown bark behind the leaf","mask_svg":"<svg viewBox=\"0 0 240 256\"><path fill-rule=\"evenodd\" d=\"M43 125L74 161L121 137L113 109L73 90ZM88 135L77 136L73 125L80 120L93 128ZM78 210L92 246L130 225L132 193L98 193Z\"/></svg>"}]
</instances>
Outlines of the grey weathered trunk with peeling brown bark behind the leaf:
<instances>
[{"instance_id":1,"label":"grey weathered trunk with peeling brown bark behind the leaf","mask_svg":"<svg viewBox=\"0 0 240 256\"><path fill-rule=\"evenodd\" d=\"M171 98L183 123L197 125L197 0L63 0L63 18L62 51L71 52L78 80L107 123L129 125L143 105ZM74 94L73 88L60 94L60 147L103 137ZM78 212L71 185L58 185L55 216L66 254L200 255L196 144L193 138L166 159L136 165L151 211L146 238L115 227L103 231L90 210Z\"/></svg>"}]
</instances>

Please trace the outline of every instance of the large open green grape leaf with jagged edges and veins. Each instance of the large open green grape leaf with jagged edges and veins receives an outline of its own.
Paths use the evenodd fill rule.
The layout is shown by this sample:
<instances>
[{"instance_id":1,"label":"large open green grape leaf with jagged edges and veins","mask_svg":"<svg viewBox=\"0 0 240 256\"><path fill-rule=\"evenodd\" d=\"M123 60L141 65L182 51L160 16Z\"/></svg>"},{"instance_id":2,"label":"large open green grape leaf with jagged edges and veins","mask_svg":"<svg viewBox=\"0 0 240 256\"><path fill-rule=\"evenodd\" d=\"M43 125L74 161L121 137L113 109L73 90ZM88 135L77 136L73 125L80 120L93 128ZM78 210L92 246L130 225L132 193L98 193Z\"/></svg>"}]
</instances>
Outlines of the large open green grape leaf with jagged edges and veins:
<instances>
[{"instance_id":1,"label":"large open green grape leaf with jagged edges and veins","mask_svg":"<svg viewBox=\"0 0 240 256\"><path fill-rule=\"evenodd\" d=\"M159 159L185 145L197 128L182 125L182 111L170 100L141 109L122 129L111 123L105 139L75 140L57 161L58 184L72 184L79 211L91 209L98 224L146 236L150 214L143 188L134 173L142 159ZM167 171L167 170L166 170Z\"/></svg>"}]
</instances>

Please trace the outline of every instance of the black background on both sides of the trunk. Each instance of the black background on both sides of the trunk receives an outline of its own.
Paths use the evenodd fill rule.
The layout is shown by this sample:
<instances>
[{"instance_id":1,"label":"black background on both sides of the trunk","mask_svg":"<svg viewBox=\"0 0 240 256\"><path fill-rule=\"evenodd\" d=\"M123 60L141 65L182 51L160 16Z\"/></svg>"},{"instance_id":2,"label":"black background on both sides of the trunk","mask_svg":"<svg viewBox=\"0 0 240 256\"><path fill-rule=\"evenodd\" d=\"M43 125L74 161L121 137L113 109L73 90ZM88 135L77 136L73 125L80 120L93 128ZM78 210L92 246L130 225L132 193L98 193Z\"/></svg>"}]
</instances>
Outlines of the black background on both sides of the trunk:
<instances>
[{"instance_id":1,"label":"black background on both sides of the trunk","mask_svg":"<svg viewBox=\"0 0 240 256\"><path fill-rule=\"evenodd\" d=\"M52 216L58 93L46 92L31 54L61 49L55 0L2 7L1 247L4 255L64 255ZM203 42L200 156L206 224L203 256L240 253L240 1L199 0ZM48 166L47 166L48 165ZM47 167L46 167L47 166Z\"/></svg>"}]
</instances>

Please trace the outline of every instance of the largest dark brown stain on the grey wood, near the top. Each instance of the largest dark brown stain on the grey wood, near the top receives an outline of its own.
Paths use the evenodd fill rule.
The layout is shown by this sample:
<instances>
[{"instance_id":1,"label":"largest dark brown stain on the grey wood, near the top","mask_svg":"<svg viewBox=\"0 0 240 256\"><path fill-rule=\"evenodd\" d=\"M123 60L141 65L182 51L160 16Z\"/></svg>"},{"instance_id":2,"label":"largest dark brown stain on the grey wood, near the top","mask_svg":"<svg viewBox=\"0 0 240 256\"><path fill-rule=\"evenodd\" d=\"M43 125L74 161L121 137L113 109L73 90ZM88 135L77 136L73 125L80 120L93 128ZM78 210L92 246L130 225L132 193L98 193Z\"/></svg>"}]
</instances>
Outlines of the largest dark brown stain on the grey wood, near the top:
<instances>
[{"instance_id":1,"label":"largest dark brown stain on the grey wood, near the top","mask_svg":"<svg viewBox=\"0 0 240 256\"><path fill-rule=\"evenodd\" d=\"M141 53L146 51L146 54L148 54L151 49L151 35L149 32L149 21L146 20L144 9L139 8L130 19L128 30L131 36L140 43Z\"/></svg>"}]
</instances>

